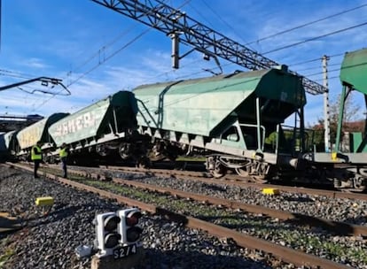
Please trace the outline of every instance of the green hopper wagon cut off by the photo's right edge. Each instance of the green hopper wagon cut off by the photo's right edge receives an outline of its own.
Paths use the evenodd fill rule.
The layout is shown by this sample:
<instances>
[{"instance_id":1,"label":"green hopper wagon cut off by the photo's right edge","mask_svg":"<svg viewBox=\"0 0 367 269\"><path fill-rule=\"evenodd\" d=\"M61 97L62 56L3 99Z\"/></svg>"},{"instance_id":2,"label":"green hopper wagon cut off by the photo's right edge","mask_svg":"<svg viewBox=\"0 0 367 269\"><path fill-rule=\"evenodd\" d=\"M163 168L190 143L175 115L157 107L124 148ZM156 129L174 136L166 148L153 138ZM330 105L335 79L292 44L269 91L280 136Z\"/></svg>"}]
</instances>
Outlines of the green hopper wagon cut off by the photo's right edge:
<instances>
[{"instance_id":1,"label":"green hopper wagon cut off by the photo's right edge","mask_svg":"<svg viewBox=\"0 0 367 269\"><path fill-rule=\"evenodd\" d=\"M363 132L345 134L343 146L341 136L344 109L347 97L352 91L363 95L367 108L367 49L347 52L340 67L340 111L337 127L336 143L332 152L314 152L309 159L327 169L326 177L333 181L335 188L363 191L367 187L367 136ZM367 121L366 121L367 123ZM347 142L348 141L348 142ZM324 170L326 171L326 170Z\"/></svg>"}]
</instances>

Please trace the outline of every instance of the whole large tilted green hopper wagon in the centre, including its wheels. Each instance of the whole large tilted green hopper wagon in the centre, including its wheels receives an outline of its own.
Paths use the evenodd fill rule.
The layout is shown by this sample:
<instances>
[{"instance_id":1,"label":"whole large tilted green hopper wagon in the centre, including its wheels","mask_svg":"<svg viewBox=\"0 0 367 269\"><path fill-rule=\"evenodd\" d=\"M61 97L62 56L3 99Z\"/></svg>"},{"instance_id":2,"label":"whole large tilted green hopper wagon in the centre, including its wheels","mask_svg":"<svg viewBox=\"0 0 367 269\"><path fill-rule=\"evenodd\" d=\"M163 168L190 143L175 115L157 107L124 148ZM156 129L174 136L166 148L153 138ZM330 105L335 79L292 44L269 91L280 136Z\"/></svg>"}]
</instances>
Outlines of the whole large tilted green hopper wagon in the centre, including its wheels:
<instances>
[{"instance_id":1,"label":"whole large tilted green hopper wagon in the centre, including its wheels","mask_svg":"<svg viewBox=\"0 0 367 269\"><path fill-rule=\"evenodd\" d=\"M209 150L207 168L215 176L232 168L263 180L272 166L295 166L304 146L299 138L296 149L287 141L294 135L281 127L295 112L303 117L306 104L301 78L284 65L144 85L134 93L140 132L157 138L155 149L167 150L160 144L170 141L169 146Z\"/></svg>"}]
</instances>

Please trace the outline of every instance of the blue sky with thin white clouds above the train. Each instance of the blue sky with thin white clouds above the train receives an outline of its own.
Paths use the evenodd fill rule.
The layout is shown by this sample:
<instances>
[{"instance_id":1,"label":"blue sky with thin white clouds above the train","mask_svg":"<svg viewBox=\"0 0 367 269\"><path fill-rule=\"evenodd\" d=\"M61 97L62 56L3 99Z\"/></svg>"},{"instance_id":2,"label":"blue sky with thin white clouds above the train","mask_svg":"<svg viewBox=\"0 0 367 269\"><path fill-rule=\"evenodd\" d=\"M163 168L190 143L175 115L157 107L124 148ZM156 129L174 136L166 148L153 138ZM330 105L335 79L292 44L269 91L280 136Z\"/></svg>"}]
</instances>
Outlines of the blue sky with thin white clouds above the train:
<instances>
[{"instance_id":1,"label":"blue sky with thin white clouds above the train","mask_svg":"<svg viewBox=\"0 0 367 269\"><path fill-rule=\"evenodd\" d=\"M232 40L242 44L252 42L246 46L260 53L353 27L367 18L366 5L354 12L254 42L367 1L170 0L166 3L180 7L191 18ZM212 75L203 69L218 72L215 61L203 60L199 52L183 58L180 69L172 69L168 36L90 0L3 0L2 12L0 85L47 76L62 79L71 96L37 92L31 95L23 91L45 89L40 83L24 86L23 90L7 89L0 92L0 114L47 116L59 111L74 112L121 89ZM366 41L367 26L356 27L265 56L290 65L293 71L311 74L309 79L322 83L321 60L294 64L359 50L367 47ZM182 53L190 50L184 45L180 49ZM342 55L335 56L329 61L330 70L334 70L329 74L332 99L341 90L335 77L339 75L342 58ZM246 70L224 59L219 61L224 73ZM312 75L315 73L318 74ZM306 121L316 123L323 117L323 96L308 94L307 97Z\"/></svg>"}]
</instances>

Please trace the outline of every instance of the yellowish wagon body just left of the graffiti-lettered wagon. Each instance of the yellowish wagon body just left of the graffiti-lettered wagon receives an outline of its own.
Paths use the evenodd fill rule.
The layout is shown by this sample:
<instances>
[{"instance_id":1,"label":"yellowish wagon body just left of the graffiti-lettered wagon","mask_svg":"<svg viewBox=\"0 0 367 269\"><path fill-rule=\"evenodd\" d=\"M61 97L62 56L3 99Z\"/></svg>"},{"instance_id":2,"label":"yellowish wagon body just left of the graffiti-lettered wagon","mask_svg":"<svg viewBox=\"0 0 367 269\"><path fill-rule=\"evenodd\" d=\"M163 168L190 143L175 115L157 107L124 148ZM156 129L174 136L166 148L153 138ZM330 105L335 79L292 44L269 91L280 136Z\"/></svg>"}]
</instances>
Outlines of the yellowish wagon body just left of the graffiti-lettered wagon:
<instances>
[{"instance_id":1,"label":"yellowish wagon body just left of the graffiti-lettered wagon","mask_svg":"<svg viewBox=\"0 0 367 269\"><path fill-rule=\"evenodd\" d=\"M17 140L20 145L20 150L31 148L37 141L50 143L51 138L48 132L49 127L59 119L65 118L68 113L54 113L50 117L41 119L36 123L26 127L17 135Z\"/></svg>"}]
</instances>

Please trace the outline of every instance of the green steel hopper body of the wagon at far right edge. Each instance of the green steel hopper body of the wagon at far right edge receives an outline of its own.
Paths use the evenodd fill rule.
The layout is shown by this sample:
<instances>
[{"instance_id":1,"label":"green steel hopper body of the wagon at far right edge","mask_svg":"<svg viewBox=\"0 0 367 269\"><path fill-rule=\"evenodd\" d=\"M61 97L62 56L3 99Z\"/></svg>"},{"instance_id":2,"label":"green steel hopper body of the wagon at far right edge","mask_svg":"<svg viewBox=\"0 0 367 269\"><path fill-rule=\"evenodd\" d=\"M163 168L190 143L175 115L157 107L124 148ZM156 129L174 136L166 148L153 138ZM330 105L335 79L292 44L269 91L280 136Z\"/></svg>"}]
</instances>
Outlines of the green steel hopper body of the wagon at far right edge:
<instances>
[{"instance_id":1,"label":"green steel hopper body of the wagon at far right edge","mask_svg":"<svg viewBox=\"0 0 367 269\"><path fill-rule=\"evenodd\" d=\"M340 67L340 81L367 94L367 49L347 52Z\"/></svg>"}]
</instances>

